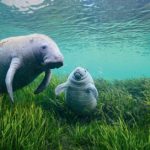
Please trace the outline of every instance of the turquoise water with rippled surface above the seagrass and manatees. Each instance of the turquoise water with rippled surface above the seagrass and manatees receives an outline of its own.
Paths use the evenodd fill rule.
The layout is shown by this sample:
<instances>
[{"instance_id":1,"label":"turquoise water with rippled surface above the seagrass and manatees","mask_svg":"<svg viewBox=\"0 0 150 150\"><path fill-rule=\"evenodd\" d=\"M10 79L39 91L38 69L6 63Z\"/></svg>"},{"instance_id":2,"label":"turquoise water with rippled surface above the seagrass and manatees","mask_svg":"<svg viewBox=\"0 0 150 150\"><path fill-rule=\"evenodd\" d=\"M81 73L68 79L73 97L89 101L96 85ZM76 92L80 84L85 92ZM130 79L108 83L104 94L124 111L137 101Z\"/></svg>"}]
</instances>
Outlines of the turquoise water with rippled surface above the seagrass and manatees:
<instances>
[{"instance_id":1,"label":"turquoise water with rippled surface above the seagrass and manatees","mask_svg":"<svg viewBox=\"0 0 150 150\"><path fill-rule=\"evenodd\" d=\"M150 77L150 0L0 0L0 39L44 33L65 57L104 79Z\"/></svg>"}]
</instances>

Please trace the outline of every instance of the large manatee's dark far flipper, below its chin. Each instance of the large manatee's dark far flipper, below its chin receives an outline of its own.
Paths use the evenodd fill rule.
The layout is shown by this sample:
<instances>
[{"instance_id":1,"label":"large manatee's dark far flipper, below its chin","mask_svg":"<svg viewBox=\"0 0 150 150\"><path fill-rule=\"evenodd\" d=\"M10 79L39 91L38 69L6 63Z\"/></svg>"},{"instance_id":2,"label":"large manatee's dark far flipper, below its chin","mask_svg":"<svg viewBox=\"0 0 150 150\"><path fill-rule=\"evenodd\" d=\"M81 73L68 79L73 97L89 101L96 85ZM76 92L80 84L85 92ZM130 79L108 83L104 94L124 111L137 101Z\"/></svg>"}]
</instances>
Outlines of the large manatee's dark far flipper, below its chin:
<instances>
[{"instance_id":1,"label":"large manatee's dark far flipper, below its chin","mask_svg":"<svg viewBox=\"0 0 150 150\"><path fill-rule=\"evenodd\" d=\"M45 71L44 79L42 80L41 84L37 87L37 89L34 91L34 94L38 94L42 92L50 83L51 80L51 71L48 69Z\"/></svg>"}]
</instances>

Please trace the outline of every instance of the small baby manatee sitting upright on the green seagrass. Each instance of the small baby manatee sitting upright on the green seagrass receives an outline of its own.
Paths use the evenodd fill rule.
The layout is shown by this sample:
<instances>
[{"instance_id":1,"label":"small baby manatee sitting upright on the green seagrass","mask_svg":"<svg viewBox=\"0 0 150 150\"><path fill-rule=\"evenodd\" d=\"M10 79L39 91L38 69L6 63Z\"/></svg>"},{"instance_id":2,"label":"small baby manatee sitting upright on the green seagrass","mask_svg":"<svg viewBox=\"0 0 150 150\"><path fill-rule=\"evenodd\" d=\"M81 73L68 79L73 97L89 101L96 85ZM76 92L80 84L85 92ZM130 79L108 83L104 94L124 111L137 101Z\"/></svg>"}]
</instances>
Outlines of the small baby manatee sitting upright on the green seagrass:
<instances>
[{"instance_id":1,"label":"small baby manatee sitting upright on the green seagrass","mask_svg":"<svg viewBox=\"0 0 150 150\"><path fill-rule=\"evenodd\" d=\"M97 106L98 92L89 72L77 67L65 83L58 85L55 94L65 91L67 105L79 114L87 114Z\"/></svg>"}]
</instances>

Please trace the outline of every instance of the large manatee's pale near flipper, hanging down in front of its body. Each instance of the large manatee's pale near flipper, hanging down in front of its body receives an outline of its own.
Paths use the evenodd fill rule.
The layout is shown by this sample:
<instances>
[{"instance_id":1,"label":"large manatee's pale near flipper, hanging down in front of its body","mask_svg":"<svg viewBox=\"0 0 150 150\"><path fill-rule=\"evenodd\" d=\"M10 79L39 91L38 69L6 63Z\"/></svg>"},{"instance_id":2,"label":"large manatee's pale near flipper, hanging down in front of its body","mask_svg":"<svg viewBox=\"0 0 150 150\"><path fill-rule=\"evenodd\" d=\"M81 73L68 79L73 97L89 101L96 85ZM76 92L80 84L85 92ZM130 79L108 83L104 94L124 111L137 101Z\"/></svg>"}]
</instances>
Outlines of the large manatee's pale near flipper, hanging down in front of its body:
<instances>
[{"instance_id":1,"label":"large manatee's pale near flipper, hanging down in front of its body","mask_svg":"<svg viewBox=\"0 0 150 150\"><path fill-rule=\"evenodd\" d=\"M10 63L10 66L9 66L9 69L7 71L6 78L5 78L7 92L9 94L10 99L11 99L12 102L14 102L14 99L13 99L13 86L12 86L13 79L14 79L16 71L19 69L20 66L21 66L20 58L17 58L17 57L13 58L11 60L11 63Z\"/></svg>"}]
</instances>

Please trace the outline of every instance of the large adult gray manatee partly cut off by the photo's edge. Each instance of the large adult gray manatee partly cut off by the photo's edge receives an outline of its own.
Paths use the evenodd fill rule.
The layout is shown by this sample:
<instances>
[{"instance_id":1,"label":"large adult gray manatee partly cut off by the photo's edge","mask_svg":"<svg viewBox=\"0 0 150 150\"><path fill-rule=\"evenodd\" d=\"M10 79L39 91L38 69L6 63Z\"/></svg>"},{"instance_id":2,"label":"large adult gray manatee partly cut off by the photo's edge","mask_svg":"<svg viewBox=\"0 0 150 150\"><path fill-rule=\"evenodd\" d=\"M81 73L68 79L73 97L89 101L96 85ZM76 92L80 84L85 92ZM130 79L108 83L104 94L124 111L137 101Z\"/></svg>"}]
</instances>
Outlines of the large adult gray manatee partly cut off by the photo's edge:
<instances>
[{"instance_id":1,"label":"large adult gray manatee partly cut off by the photo's edge","mask_svg":"<svg viewBox=\"0 0 150 150\"><path fill-rule=\"evenodd\" d=\"M56 43L43 34L11 37L0 41L0 93L8 92L14 102L13 91L31 83L39 74L45 77L35 94L49 84L50 69L63 65L63 55Z\"/></svg>"}]
</instances>

